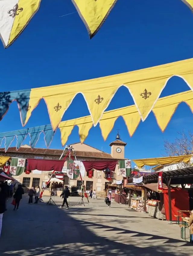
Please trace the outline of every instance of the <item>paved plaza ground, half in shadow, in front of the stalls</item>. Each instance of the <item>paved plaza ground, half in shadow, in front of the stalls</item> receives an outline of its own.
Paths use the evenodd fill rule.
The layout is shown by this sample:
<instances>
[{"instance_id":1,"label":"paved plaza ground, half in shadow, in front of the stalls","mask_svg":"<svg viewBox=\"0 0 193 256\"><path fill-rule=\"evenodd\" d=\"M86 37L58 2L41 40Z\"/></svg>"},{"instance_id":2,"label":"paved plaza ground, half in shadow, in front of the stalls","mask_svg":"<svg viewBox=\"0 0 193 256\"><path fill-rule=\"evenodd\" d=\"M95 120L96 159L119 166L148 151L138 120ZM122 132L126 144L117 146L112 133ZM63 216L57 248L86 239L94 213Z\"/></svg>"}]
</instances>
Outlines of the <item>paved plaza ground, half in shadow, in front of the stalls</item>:
<instances>
[{"instance_id":1,"label":"paved plaza ground, half in shadow, in front of the stalls","mask_svg":"<svg viewBox=\"0 0 193 256\"><path fill-rule=\"evenodd\" d=\"M49 198L44 197L44 201ZM70 209L57 205L28 204L19 211L11 200L3 217L1 256L172 256L192 255L192 245L180 238L180 228L128 210L128 206L104 199L70 198Z\"/></svg>"}]
</instances>

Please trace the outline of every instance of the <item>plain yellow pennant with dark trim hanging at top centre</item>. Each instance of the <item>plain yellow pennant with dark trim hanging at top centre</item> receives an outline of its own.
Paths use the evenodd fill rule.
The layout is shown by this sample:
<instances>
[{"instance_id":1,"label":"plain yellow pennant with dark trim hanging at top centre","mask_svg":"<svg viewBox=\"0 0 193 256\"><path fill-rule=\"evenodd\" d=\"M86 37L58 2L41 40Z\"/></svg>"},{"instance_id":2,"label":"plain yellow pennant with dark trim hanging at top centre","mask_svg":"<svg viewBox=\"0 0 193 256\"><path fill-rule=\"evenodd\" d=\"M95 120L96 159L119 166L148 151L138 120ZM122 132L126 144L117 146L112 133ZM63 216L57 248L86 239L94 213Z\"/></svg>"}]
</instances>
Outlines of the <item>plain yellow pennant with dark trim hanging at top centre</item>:
<instances>
[{"instance_id":1,"label":"plain yellow pennant with dark trim hanging at top centre","mask_svg":"<svg viewBox=\"0 0 193 256\"><path fill-rule=\"evenodd\" d=\"M72 0L92 38L101 28L117 0Z\"/></svg>"}]
</instances>

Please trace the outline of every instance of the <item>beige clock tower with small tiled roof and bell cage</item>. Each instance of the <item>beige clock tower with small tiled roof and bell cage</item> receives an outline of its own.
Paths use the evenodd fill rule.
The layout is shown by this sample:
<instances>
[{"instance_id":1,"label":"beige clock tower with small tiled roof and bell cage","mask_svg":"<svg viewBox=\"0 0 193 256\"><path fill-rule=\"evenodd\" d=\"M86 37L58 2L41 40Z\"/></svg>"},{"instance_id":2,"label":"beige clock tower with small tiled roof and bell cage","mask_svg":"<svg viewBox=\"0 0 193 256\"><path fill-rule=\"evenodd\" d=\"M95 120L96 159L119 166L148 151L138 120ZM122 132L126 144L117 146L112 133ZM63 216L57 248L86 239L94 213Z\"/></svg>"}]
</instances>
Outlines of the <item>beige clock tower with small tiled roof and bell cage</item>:
<instances>
[{"instance_id":1,"label":"beige clock tower with small tiled roof and bell cage","mask_svg":"<svg viewBox=\"0 0 193 256\"><path fill-rule=\"evenodd\" d=\"M125 146L127 143L123 142L119 136L119 132L116 135L116 140L112 141L109 145L111 147L111 155L116 159L125 158Z\"/></svg>"}]
</instances>

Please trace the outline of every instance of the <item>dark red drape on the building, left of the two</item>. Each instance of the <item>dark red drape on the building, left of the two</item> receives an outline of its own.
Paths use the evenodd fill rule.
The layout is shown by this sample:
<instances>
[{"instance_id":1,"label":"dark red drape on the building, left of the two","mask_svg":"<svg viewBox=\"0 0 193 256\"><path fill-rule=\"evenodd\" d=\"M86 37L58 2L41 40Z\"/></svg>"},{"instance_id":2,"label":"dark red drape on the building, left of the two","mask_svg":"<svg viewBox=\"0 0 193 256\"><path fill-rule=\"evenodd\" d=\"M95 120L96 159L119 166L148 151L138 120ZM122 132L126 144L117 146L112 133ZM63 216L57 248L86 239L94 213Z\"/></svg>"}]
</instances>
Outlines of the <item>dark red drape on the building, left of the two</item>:
<instances>
[{"instance_id":1,"label":"dark red drape on the building, left of the two","mask_svg":"<svg viewBox=\"0 0 193 256\"><path fill-rule=\"evenodd\" d=\"M42 160L42 159L27 159L27 171L62 171L64 166L62 160Z\"/></svg>"}]
</instances>

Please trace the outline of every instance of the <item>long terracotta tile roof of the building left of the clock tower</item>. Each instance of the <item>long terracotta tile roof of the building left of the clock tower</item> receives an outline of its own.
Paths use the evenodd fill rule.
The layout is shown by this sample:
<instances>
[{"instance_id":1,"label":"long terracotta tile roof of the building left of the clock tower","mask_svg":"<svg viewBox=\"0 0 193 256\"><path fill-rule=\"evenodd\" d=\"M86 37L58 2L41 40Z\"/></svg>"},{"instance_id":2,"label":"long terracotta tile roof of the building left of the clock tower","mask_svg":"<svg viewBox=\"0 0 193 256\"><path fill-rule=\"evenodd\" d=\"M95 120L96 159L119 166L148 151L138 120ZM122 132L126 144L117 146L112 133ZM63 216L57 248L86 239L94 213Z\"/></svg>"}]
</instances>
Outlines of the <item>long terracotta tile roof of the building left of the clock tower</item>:
<instances>
[{"instance_id":1,"label":"long terracotta tile roof of the building left of the clock tower","mask_svg":"<svg viewBox=\"0 0 193 256\"><path fill-rule=\"evenodd\" d=\"M5 152L5 148L0 148L0 152ZM16 150L15 147L8 148L7 154L9 153L22 153L22 154L34 154L34 155L52 155L52 156L61 156L63 150L62 149L47 149L47 148L24 148L21 147ZM64 155L66 155L65 152ZM72 152L72 156L74 152ZM83 158L100 158L100 159L113 159L110 154L104 152L87 152L87 151L76 151L77 157Z\"/></svg>"}]
</instances>

